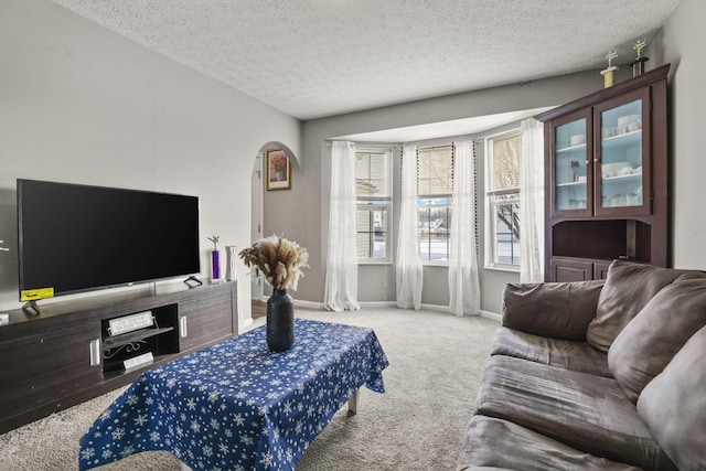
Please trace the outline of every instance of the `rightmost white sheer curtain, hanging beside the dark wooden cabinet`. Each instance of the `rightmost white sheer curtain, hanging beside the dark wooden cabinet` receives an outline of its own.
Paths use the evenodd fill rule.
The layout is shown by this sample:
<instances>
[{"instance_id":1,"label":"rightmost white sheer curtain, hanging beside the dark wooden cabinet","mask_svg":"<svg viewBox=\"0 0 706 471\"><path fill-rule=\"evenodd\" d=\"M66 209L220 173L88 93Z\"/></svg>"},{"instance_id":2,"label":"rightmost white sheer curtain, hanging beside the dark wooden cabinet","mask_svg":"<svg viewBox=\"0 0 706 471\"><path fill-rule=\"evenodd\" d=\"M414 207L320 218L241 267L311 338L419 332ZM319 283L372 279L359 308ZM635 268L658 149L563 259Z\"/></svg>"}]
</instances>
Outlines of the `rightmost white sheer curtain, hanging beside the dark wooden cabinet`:
<instances>
[{"instance_id":1,"label":"rightmost white sheer curtain, hanging beside the dark wooden cabinet","mask_svg":"<svg viewBox=\"0 0 706 471\"><path fill-rule=\"evenodd\" d=\"M544 281L544 125L522 121L520 282Z\"/></svg>"}]
</instances>

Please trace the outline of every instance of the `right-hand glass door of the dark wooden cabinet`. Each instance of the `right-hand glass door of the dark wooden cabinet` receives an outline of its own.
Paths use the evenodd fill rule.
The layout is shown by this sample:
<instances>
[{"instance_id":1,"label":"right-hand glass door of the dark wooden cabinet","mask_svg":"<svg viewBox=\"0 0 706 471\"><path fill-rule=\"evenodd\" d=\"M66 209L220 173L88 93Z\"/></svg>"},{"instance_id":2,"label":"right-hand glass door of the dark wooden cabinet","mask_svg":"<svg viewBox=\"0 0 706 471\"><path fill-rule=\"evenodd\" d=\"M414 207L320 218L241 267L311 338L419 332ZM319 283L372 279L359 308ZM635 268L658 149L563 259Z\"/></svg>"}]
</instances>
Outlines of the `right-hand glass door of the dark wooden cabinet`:
<instances>
[{"instance_id":1,"label":"right-hand glass door of the dark wooden cabinet","mask_svg":"<svg viewBox=\"0 0 706 471\"><path fill-rule=\"evenodd\" d=\"M650 193L643 184L649 181L643 179L643 173L649 171L649 162L643 157L648 103L638 95L621 105L597 110L600 122L597 214L640 214L644 208L649 212L645 195Z\"/></svg>"}]
</instances>

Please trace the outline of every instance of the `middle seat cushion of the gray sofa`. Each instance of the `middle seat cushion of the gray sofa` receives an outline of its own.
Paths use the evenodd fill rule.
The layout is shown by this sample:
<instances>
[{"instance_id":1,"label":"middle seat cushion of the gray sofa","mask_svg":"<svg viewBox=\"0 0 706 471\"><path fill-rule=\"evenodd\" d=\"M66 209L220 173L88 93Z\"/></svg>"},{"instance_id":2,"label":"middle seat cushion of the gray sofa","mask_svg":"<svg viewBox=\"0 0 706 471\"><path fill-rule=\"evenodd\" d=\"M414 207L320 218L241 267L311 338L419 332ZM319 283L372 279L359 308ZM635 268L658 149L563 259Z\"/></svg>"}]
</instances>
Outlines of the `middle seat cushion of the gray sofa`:
<instances>
[{"instance_id":1,"label":"middle seat cushion of the gray sofa","mask_svg":"<svg viewBox=\"0 0 706 471\"><path fill-rule=\"evenodd\" d=\"M475 407L597 457L675 469L612 378L494 355Z\"/></svg>"}]
</instances>

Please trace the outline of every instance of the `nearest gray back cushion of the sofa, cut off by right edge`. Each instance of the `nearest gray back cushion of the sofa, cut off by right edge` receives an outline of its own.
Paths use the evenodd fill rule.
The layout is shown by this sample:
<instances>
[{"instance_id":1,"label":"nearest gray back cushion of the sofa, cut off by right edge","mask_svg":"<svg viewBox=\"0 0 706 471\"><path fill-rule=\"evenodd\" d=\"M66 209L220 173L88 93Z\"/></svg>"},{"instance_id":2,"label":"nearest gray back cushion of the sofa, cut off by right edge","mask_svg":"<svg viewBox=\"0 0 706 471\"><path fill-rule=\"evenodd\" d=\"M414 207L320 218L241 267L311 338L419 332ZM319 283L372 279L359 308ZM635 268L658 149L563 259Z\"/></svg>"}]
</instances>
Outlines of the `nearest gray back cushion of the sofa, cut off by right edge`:
<instances>
[{"instance_id":1,"label":"nearest gray back cushion of the sofa, cut off by right edge","mask_svg":"<svg viewBox=\"0 0 706 471\"><path fill-rule=\"evenodd\" d=\"M681 470L706 469L706 328L645 386L638 413Z\"/></svg>"}]
</instances>

